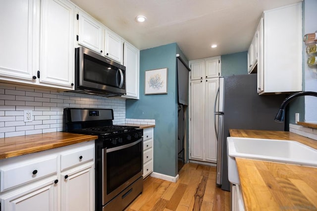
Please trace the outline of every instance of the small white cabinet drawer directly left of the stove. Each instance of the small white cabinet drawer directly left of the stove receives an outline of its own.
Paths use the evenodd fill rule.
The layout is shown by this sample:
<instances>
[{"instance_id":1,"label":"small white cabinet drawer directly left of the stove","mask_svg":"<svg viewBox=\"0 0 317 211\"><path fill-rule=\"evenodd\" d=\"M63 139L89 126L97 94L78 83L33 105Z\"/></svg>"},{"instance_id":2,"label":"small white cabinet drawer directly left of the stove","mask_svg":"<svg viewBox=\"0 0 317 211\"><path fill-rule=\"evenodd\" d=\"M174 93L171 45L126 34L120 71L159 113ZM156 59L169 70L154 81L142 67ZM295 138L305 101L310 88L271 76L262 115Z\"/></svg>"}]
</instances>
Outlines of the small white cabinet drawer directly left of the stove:
<instances>
[{"instance_id":1,"label":"small white cabinet drawer directly left of the stove","mask_svg":"<svg viewBox=\"0 0 317 211\"><path fill-rule=\"evenodd\" d=\"M81 148L75 151L63 153L60 158L60 170L88 162L94 159L94 147Z\"/></svg>"}]
</instances>

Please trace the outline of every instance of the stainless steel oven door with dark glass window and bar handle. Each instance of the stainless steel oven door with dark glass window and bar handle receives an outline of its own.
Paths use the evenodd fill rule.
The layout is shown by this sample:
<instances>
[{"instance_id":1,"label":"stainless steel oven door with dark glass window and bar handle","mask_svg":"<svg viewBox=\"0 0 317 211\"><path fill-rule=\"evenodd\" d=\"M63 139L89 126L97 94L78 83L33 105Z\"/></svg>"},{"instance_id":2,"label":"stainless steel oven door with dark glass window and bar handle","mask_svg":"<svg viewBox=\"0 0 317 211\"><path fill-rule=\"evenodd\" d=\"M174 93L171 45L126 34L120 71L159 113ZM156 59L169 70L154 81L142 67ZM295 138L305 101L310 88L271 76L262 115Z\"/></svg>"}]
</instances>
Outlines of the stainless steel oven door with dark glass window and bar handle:
<instances>
[{"instance_id":1,"label":"stainless steel oven door with dark glass window and bar handle","mask_svg":"<svg viewBox=\"0 0 317 211\"><path fill-rule=\"evenodd\" d=\"M103 149L103 205L143 175L143 138Z\"/></svg>"}]
</instances>

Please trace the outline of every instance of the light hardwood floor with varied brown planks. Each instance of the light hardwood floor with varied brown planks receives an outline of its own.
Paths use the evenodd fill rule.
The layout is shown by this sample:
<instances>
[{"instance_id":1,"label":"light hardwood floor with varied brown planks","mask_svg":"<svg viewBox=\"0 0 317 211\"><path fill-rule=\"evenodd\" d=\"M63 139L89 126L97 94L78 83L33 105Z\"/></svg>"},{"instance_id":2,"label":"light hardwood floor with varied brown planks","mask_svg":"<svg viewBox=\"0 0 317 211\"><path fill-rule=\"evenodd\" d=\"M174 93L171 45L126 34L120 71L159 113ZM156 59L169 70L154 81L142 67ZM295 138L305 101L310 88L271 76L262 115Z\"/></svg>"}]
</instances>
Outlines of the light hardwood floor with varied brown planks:
<instances>
[{"instance_id":1,"label":"light hardwood floor with varied brown planks","mask_svg":"<svg viewBox=\"0 0 317 211\"><path fill-rule=\"evenodd\" d=\"M179 180L148 176L143 193L125 211L229 211L230 192L216 187L216 167L186 163Z\"/></svg>"}]
</instances>

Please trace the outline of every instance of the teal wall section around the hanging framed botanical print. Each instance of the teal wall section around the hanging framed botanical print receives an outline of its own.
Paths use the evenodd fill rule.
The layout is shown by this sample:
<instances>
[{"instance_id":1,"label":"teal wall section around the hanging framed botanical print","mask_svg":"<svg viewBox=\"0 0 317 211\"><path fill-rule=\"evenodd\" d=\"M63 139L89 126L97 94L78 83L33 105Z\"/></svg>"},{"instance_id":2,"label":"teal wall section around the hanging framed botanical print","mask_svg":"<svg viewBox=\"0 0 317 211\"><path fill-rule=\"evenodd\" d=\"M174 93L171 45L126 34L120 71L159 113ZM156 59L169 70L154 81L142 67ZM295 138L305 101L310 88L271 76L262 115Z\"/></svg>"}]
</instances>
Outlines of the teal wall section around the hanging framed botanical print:
<instances>
[{"instance_id":1,"label":"teal wall section around the hanging framed botanical print","mask_svg":"<svg viewBox=\"0 0 317 211\"><path fill-rule=\"evenodd\" d=\"M126 100L126 118L155 119L154 171L177 175L176 43L140 52L140 99ZM185 57L186 58L186 57ZM144 95L145 71L167 68L167 94Z\"/></svg>"}]
</instances>

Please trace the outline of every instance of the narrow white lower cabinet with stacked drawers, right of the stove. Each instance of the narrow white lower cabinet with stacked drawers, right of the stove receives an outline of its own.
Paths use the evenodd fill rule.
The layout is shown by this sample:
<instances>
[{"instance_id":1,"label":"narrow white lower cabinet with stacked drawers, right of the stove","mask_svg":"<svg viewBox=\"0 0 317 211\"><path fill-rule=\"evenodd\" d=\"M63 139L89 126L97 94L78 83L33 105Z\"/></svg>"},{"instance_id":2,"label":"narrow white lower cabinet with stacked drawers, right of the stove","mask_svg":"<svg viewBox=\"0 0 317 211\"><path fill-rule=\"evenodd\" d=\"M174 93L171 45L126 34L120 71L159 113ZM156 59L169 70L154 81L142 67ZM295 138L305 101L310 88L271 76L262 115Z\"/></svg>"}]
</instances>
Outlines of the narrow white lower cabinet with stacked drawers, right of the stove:
<instances>
[{"instance_id":1,"label":"narrow white lower cabinet with stacked drawers, right of the stove","mask_svg":"<svg viewBox=\"0 0 317 211\"><path fill-rule=\"evenodd\" d=\"M143 129L143 178L153 172L153 127Z\"/></svg>"}]
</instances>

